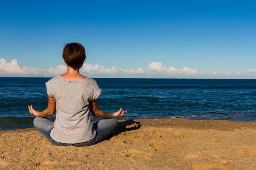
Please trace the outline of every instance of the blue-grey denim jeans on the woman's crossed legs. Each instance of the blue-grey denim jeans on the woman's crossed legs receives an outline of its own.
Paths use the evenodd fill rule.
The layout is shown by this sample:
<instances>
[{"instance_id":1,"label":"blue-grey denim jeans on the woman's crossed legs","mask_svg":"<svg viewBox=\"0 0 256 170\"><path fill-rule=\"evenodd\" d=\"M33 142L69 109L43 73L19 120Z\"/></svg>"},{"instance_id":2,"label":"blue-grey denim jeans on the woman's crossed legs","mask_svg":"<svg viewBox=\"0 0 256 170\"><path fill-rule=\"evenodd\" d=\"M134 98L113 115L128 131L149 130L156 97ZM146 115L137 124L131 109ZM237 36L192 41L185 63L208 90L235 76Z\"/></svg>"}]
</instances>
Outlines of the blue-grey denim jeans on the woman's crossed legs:
<instances>
[{"instance_id":1,"label":"blue-grey denim jeans on the woman's crossed legs","mask_svg":"<svg viewBox=\"0 0 256 170\"><path fill-rule=\"evenodd\" d=\"M105 137L110 135L117 127L118 120L116 118L113 119L102 119L99 122L93 123L93 127L96 130L95 138L91 139L87 142L77 143L77 144L66 144L60 143L52 139L50 136L51 130L53 129L53 122L47 119L46 117L36 117L34 119L35 128L42 133L51 144L55 144L58 146L90 146L96 143L101 142Z\"/></svg>"}]
</instances>

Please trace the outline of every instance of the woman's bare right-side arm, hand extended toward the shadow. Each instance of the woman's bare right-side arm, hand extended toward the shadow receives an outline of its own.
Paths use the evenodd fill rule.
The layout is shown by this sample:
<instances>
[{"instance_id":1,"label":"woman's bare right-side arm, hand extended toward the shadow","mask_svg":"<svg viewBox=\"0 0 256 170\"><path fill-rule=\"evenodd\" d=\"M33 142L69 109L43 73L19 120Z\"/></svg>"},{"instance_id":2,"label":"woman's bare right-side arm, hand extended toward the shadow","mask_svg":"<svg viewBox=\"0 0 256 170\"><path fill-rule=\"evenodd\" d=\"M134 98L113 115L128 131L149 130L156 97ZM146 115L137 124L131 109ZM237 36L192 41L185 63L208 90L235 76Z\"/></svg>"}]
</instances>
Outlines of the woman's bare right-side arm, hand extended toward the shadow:
<instances>
[{"instance_id":1,"label":"woman's bare right-side arm, hand extended toward the shadow","mask_svg":"<svg viewBox=\"0 0 256 170\"><path fill-rule=\"evenodd\" d=\"M120 110L117 111L116 113L112 113L112 114L99 110L97 99L90 101L90 111L93 116L102 117L102 118L121 117L127 112L127 111L124 111L122 108L120 108Z\"/></svg>"}]
</instances>

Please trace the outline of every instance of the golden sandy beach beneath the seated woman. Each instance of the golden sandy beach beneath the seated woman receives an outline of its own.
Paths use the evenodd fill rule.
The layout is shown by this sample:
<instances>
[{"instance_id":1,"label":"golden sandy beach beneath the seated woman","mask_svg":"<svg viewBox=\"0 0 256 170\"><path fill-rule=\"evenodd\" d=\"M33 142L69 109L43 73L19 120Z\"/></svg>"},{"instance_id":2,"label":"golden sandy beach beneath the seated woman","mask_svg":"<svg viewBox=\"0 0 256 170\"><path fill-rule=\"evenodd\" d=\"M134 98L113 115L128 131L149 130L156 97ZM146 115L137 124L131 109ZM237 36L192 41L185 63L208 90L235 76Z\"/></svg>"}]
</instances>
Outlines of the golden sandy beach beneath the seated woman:
<instances>
[{"instance_id":1,"label":"golden sandy beach beneath the seated woman","mask_svg":"<svg viewBox=\"0 0 256 170\"><path fill-rule=\"evenodd\" d=\"M4 170L256 170L256 122L119 122L89 147L51 145L34 128L0 132Z\"/></svg>"}]
</instances>

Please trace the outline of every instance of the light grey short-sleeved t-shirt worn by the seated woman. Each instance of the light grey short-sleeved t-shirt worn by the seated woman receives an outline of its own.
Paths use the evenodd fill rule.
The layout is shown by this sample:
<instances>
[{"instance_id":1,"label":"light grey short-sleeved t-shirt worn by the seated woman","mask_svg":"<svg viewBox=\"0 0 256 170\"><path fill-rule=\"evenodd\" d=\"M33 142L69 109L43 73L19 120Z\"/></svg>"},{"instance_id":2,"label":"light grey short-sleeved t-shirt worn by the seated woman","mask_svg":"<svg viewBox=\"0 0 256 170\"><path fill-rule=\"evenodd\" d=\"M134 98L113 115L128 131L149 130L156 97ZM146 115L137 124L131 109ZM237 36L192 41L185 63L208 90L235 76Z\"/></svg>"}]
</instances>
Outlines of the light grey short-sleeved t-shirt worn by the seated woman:
<instances>
[{"instance_id":1,"label":"light grey short-sleeved t-shirt worn by the seated woman","mask_svg":"<svg viewBox=\"0 0 256 170\"><path fill-rule=\"evenodd\" d=\"M60 75L46 84L47 94L56 101L56 119L50 136L57 142L76 144L93 139L96 131L90 117L90 101L101 89L91 78L69 81Z\"/></svg>"}]
</instances>

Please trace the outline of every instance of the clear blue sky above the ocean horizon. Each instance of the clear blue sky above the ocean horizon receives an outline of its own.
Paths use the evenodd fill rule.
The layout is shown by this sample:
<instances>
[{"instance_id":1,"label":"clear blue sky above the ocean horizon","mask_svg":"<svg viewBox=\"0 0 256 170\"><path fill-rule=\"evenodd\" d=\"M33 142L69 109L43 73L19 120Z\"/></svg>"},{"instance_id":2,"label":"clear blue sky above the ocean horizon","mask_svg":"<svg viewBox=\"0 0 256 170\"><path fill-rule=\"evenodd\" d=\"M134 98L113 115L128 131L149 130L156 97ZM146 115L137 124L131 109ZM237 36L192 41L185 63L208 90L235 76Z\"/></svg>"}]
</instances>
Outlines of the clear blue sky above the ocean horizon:
<instances>
[{"instance_id":1,"label":"clear blue sky above the ocean horizon","mask_svg":"<svg viewBox=\"0 0 256 170\"><path fill-rule=\"evenodd\" d=\"M255 6L246 0L0 1L0 76L47 76L64 65L64 44L79 42L93 68L82 73L91 77L254 78ZM169 74L170 67L176 72ZM38 72L25 73L31 68Z\"/></svg>"}]
</instances>

